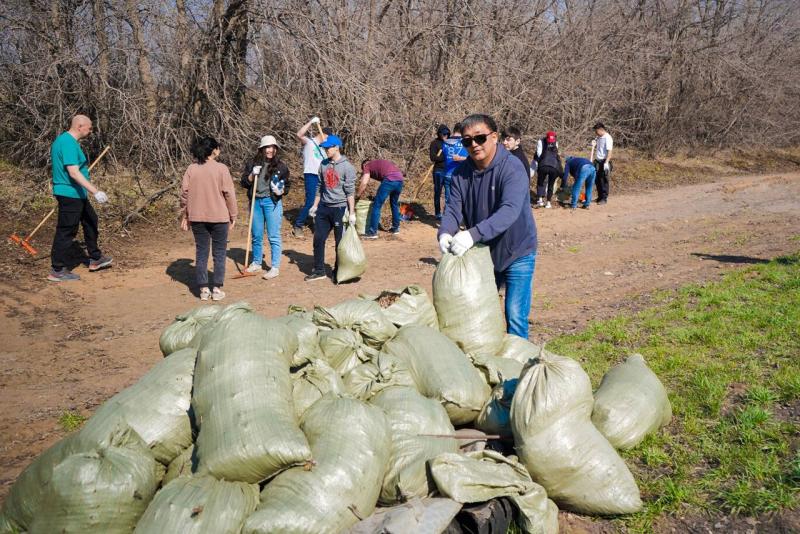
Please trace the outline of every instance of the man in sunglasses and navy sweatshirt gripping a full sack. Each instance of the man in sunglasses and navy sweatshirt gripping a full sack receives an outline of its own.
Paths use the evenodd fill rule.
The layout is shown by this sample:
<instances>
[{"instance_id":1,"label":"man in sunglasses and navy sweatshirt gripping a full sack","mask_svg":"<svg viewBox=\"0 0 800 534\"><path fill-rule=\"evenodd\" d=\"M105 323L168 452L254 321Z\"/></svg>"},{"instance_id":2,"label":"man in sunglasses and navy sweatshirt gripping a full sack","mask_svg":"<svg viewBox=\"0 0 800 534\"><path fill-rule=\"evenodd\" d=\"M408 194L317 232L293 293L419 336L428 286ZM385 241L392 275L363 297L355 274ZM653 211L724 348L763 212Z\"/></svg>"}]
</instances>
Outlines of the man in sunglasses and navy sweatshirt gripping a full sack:
<instances>
[{"instance_id":1,"label":"man in sunglasses and navy sweatshirt gripping a full sack","mask_svg":"<svg viewBox=\"0 0 800 534\"><path fill-rule=\"evenodd\" d=\"M497 287L506 286L507 331L528 339L537 247L528 172L498 144L492 117L470 115L462 127L469 158L453 172L439 248L462 256L475 243L489 246ZM462 224L466 230L459 231Z\"/></svg>"}]
</instances>

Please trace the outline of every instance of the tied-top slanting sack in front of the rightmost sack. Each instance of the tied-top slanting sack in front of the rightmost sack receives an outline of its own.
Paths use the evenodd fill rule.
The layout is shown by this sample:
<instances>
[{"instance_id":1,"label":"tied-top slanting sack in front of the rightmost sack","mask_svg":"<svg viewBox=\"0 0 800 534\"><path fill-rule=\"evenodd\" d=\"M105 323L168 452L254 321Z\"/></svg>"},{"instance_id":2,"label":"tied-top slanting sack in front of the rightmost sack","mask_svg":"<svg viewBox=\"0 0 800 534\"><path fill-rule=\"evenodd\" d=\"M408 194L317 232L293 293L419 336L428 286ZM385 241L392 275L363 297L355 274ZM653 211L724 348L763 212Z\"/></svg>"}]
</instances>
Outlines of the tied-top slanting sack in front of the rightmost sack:
<instances>
[{"instance_id":1,"label":"tied-top slanting sack in front of the rightmost sack","mask_svg":"<svg viewBox=\"0 0 800 534\"><path fill-rule=\"evenodd\" d=\"M592 385L575 360L541 355L523 370L511 402L520 460L562 508L587 515L630 514L639 488L591 421Z\"/></svg>"}]
</instances>

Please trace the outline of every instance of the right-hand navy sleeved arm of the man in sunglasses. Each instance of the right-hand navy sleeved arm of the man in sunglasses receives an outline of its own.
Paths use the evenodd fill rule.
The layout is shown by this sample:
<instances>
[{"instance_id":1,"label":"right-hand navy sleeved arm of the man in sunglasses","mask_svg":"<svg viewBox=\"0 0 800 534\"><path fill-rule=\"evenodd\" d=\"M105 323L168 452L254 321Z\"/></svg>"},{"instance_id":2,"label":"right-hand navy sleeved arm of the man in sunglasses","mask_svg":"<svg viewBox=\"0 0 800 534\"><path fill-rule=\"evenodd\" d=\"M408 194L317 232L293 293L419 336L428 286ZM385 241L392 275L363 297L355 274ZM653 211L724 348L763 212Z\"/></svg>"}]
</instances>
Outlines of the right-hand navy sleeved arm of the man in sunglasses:
<instances>
[{"instance_id":1,"label":"right-hand navy sleeved arm of the man in sunglasses","mask_svg":"<svg viewBox=\"0 0 800 534\"><path fill-rule=\"evenodd\" d=\"M521 161L509 159L500 181L500 207L489 218L468 229L476 243L490 241L508 230L527 207L525 197L529 183Z\"/></svg>"}]
</instances>

